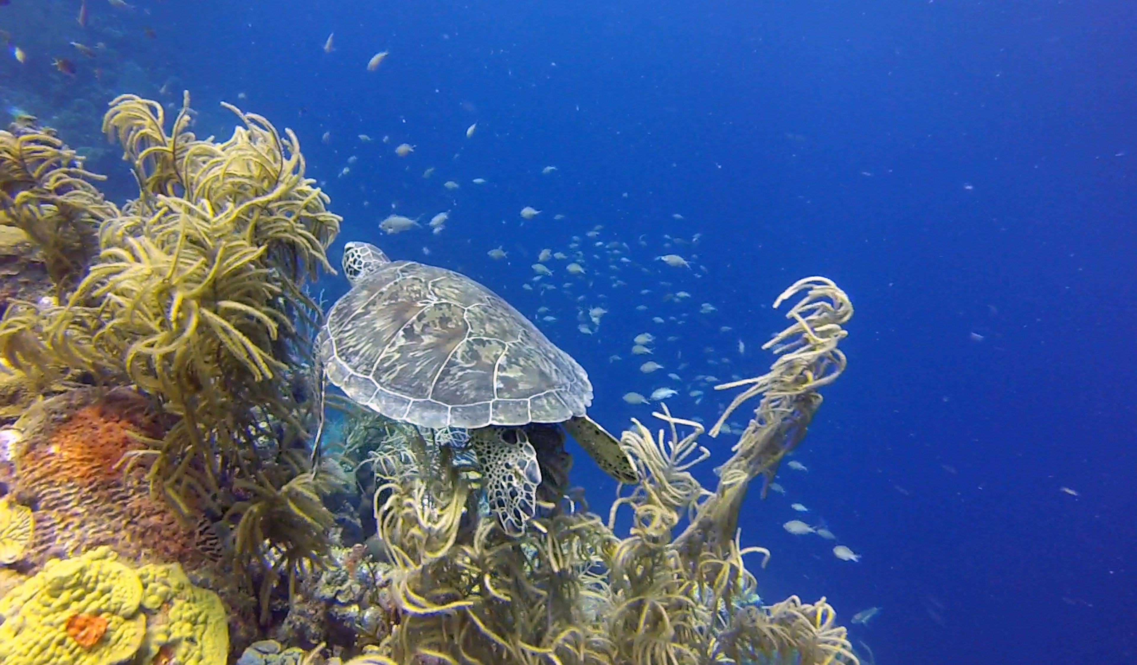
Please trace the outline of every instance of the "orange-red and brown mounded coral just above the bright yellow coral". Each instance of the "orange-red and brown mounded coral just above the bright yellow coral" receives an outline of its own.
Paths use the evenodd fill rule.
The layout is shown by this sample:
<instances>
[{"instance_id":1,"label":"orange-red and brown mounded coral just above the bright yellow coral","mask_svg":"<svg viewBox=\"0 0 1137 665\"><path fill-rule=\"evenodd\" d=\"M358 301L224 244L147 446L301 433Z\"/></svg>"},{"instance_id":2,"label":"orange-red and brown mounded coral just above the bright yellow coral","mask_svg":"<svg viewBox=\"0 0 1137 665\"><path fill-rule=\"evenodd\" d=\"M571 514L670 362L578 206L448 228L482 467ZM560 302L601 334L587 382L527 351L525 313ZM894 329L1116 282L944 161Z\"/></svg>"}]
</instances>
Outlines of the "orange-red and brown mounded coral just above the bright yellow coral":
<instances>
[{"instance_id":1,"label":"orange-red and brown mounded coral just above the bright yellow coral","mask_svg":"<svg viewBox=\"0 0 1137 665\"><path fill-rule=\"evenodd\" d=\"M209 532L185 524L151 497L146 465L124 473L147 439L163 430L138 393L75 390L44 400L17 426L11 497L34 508L25 557L41 564L108 546L134 560L179 562L199 568L216 560ZM140 462L144 458L140 458ZM0 515L0 556L5 554Z\"/></svg>"}]
</instances>

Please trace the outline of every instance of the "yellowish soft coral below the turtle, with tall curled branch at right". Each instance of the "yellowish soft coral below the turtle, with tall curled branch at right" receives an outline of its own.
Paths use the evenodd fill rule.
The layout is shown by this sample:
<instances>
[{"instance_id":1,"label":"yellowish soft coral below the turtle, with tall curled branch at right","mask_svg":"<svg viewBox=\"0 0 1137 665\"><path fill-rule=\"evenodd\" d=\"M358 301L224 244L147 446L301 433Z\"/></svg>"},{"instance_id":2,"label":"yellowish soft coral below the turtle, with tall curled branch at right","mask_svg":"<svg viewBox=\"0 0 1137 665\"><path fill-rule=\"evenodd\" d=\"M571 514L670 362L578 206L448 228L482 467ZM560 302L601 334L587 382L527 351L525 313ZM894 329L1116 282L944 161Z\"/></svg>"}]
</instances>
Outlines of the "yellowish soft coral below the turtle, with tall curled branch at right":
<instances>
[{"instance_id":1,"label":"yellowish soft coral below the turtle, with tall curled branch at right","mask_svg":"<svg viewBox=\"0 0 1137 665\"><path fill-rule=\"evenodd\" d=\"M698 423L655 414L657 435L636 422L622 446L640 481L607 523L575 499L542 506L521 538L479 517L463 476L441 482L376 464L379 537L395 570L400 618L377 649L351 663L550 663L696 665L856 663L824 598L763 605L742 547L738 513L748 483L773 477L821 404L816 390L845 367L837 343L852 306L832 282L798 282L779 299L804 298L774 338L771 371L735 400L760 397L755 417L721 467L715 491L689 468L706 456ZM680 429L689 429L686 435ZM438 480L438 479L433 479ZM620 512L631 527L616 534ZM689 524L678 537L681 523Z\"/></svg>"}]
</instances>

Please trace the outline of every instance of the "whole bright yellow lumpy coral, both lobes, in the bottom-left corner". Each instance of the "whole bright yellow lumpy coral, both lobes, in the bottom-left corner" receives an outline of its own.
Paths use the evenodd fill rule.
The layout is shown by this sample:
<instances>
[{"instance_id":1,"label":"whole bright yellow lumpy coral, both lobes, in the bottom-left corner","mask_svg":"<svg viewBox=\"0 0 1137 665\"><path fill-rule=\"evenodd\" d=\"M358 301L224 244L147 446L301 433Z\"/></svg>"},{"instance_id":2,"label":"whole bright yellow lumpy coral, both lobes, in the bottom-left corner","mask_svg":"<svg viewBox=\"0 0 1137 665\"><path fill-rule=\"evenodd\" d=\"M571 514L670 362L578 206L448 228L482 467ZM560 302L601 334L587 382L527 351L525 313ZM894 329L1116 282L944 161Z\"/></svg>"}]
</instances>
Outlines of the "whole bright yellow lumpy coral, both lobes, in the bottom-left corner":
<instances>
[{"instance_id":1,"label":"whole bright yellow lumpy coral, both lobes, in the bottom-left corner","mask_svg":"<svg viewBox=\"0 0 1137 665\"><path fill-rule=\"evenodd\" d=\"M229 617L177 564L138 570L101 547L48 562L0 599L5 665L224 665Z\"/></svg>"}]
</instances>

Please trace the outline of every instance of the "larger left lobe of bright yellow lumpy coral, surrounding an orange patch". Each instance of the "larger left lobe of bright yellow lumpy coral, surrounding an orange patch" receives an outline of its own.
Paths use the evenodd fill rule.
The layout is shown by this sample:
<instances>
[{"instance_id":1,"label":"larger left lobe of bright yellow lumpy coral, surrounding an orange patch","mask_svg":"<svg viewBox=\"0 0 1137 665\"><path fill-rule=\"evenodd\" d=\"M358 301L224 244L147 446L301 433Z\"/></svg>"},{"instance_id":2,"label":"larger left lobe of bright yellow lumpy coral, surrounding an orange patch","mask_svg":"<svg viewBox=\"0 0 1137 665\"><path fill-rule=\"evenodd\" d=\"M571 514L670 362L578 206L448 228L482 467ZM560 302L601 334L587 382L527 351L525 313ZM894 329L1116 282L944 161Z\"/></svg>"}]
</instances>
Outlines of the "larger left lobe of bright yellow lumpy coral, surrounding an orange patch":
<instances>
[{"instance_id":1,"label":"larger left lobe of bright yellow lumpy coral, surrounding an orange patch","mask_svg":"<svg viewBox=\"0 0 1137 665\"><path fill-rule=\"evenodd\" d=\"M5 665L113 665L132 658L146 637L139 612L142 582L109 548L49 562L0 600L0 663ZM76 615L106 620L90 648L70 634Z\"/></svg>"}]
</instances>

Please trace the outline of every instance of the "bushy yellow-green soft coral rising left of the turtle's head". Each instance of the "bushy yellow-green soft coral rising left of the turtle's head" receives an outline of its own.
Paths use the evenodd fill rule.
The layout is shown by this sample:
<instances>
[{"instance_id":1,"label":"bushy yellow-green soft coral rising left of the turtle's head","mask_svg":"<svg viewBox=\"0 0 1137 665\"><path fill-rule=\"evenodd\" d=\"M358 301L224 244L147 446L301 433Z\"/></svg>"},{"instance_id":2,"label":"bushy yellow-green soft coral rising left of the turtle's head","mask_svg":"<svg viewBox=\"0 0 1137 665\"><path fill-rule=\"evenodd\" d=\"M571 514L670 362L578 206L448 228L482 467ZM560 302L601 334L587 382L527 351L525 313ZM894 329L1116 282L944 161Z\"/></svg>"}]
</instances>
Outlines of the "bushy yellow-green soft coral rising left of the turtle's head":
<instances>
[{"instance_id":1,"label":"bushy yellow-green soft coral rising left of the turtle's head","mask_svg":"<svg viewBox=\"0 0 1137 665\"><path fill-rule=\"evenodd\" d=\"M185 515L229 510L215 501L234 482L275 501L307 471L265 464L263 449L302 447L314 429L315 391L296 381L310 374L319 316L305 289L333 272L325 250L340 223L304 176L296 135L226 108L241 126L217 143L189 131L188 94L169 133L160 103L115 99L103 130L139 198L100 224L97 259L63 306L10 308L0 322L0 357L18 371L61 365L157 399L173 425L127 469L144 465L151 490ZM300 531L272 543L290 573L326 555L326 530L309 517L292 515ZM263 540L241 546L254 548L241 560L271 554Z\"/></svg>"}]
</instances>

